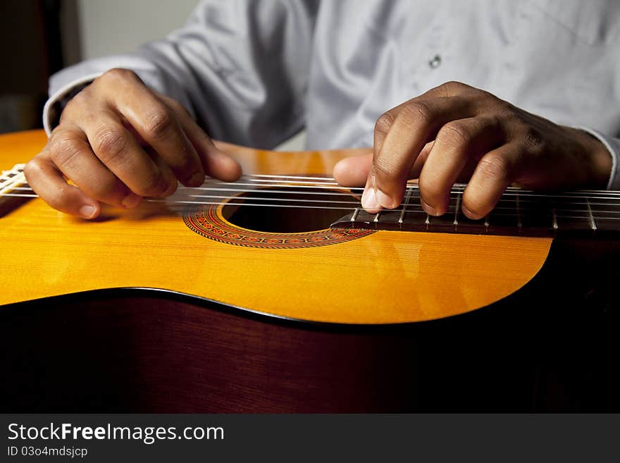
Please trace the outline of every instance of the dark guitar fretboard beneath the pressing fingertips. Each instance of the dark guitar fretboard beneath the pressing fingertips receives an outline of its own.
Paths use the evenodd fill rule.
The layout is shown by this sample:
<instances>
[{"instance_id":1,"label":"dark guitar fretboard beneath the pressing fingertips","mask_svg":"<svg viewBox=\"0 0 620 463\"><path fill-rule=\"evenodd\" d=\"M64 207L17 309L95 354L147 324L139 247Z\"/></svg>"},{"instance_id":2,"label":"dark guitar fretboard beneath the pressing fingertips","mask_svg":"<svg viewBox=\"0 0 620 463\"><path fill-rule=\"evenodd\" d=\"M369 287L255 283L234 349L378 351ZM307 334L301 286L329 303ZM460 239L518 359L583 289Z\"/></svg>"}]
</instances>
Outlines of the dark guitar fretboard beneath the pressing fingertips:
<instances>
[{"instance_id":1,"label":"dark guitar fretboard beneath the pressing fingertips","mask_svg":"<svg viewBox=\"0 0 620 463\"><path fill-rule=\"evenodd\" d=\"M439 217L423 211L415 185L407 188L403 203L397 209L378 214L355 209L332 227L550 237L620 234L620 195L617 192L583 190L541 194L511 187L488 216L473 221L461 211L464 186L454 185L450 207Z\"/></svg>"}]
</instances>

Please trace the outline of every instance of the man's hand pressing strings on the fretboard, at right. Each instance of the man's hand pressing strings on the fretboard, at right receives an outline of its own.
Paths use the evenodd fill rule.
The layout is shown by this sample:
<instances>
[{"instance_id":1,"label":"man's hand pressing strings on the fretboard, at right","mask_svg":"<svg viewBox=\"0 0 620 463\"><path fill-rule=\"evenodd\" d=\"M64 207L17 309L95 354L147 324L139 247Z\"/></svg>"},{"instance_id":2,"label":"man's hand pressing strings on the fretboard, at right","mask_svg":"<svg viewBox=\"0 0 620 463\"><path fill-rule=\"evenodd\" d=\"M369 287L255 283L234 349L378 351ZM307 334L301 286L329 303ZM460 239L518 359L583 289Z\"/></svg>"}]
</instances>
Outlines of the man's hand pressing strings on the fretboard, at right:
<instances>
[{"instance_id":1,"label":"man's hand pressing strings on the fretboard, at right","mask_svg":"<svg viewBox=\"0 0 620 463\"><path fill-rule=\"evenodd\" d=\"M455 182L467 182L464 214L488 214L509 185L535 190L605 187L612 158L587 132L547 121L481 89L447 82L384 113L372 155L340 161L338 183L366 184L362 206L375 213L402 202L419 178L421 204L445 214Z\"/></svg>"}]
</instances>

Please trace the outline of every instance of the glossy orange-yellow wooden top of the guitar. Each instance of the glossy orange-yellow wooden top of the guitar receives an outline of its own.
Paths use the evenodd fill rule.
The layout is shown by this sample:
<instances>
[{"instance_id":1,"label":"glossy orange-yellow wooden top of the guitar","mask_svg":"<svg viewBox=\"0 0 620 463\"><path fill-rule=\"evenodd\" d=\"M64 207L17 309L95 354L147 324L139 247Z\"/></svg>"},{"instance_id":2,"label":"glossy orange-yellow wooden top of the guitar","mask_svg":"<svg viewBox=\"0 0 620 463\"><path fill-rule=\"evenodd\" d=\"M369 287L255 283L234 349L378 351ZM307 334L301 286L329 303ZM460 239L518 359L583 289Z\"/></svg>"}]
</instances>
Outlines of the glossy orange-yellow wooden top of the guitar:
<instances>
[{"instance_id":1,"label":"glossy orange-yellow wooden top of the guitar","mask_svg":"<svg viewBox=\"0 0 620 463\"><path fill-rule=\"evenodd\" d=\"M43 132L0 136L0 167L32 158ZM221 144L245 173L331 173L359 150L276 153ZM293 319L401 323L483 307L538 272L548 238L380 231L309 249L226 245L163 204L98 221L34 199L0 218L0 304L101 288L163 288Z\"/></svg>"}]
</instances>

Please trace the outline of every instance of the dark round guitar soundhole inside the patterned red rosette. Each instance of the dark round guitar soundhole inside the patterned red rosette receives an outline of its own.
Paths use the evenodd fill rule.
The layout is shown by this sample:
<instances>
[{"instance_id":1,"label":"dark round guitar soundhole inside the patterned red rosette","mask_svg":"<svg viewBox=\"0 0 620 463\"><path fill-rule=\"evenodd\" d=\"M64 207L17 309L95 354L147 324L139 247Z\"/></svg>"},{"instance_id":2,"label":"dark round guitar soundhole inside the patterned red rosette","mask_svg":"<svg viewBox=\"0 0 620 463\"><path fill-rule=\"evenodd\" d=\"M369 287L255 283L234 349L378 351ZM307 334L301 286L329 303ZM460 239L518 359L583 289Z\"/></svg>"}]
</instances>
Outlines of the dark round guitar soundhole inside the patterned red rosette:
<instances>
[{"instance_id":1,"label":"dark round guitar soundhole inside the patterned red rosette","mask_svg":"<svg viewBox=\"0 0 620 463\"><path fill-rule=\"evenodd\" d=\"M266 233L305 233L328 228L359 204L353 195L313 188L266 188L235 196L222 214L236 226Z\"/></svg>"}]
</instances>

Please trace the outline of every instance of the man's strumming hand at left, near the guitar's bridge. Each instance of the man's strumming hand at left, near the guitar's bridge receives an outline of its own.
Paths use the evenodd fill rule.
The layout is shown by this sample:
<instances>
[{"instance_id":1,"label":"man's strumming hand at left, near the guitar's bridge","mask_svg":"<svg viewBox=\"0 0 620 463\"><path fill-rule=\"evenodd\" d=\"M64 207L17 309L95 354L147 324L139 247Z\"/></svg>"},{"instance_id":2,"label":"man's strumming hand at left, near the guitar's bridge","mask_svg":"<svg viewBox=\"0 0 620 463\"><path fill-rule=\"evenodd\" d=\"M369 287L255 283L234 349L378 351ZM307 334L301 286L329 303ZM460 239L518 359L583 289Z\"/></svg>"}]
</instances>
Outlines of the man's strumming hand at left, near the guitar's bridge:
<instances>
[{"instance_id":1,"label":"man's strumming hand at left, near the guitar's bridge","mask_svg":"<svg viewBox=\"0 0 620 463\"><path fill-rule=\"evenodd\" d=\"M171 195L177 180L188 187L202 185L205 174L232 181L241 168L177 101L132 71L113 69L69 101L24 173L54 209L95 218L100 202L135 207L142 197Z\"/></svg>"}]
</instances>

